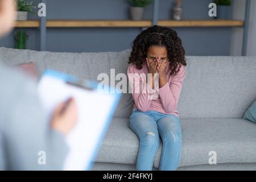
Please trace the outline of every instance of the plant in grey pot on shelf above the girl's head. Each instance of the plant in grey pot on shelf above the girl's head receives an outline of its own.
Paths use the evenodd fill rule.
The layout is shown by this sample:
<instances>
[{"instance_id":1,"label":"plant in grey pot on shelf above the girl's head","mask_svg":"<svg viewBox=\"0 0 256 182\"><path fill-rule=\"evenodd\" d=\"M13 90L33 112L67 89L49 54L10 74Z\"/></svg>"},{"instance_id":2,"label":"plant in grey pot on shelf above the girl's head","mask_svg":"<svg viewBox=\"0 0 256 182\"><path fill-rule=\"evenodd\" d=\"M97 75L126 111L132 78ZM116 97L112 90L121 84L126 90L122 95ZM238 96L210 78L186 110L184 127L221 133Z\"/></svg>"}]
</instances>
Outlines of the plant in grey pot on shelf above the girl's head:
<instances>
[{"instance_id":1,"label":"plant in grey pot on shelf above the girl's head","mask_svg":"<svg viewBox=\"0 0 256 182\"><path fill-rule=\"evenodd\" d=\"M144 7L150 5L152 0L129 0L131 4L130 15L132 20L142 20L144 14Z\"/></svg>"}]
</instances>

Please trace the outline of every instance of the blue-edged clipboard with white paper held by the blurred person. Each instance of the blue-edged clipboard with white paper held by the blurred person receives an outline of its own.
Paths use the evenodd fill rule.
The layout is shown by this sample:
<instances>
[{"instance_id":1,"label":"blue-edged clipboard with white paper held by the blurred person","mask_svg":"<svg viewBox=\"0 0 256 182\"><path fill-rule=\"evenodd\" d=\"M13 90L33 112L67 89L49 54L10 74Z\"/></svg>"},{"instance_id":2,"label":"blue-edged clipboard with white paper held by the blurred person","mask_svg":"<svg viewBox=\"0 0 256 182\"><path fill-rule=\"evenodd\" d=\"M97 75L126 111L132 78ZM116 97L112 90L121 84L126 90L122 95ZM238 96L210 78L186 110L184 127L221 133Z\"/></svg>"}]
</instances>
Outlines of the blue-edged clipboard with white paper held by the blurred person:
<instances>
[{"instance_id":1,"label":"blue-edged clipboard with white paper held by the blurred person","mask_svg":"<svg viewBox=\"0 0 256 182\"><path fill-rule=\"evenodd\" d=\"M84 81L53 70L44 72L38 85L39 100L51 120L56 106L70 97L75 98L79 121L65 137L69 152L64 161L64 171L90 170L100 144L112 121L121 94L113 88L93 81ZM106 92L106 89L109 92Z\"/></svg>"}]
</instances>

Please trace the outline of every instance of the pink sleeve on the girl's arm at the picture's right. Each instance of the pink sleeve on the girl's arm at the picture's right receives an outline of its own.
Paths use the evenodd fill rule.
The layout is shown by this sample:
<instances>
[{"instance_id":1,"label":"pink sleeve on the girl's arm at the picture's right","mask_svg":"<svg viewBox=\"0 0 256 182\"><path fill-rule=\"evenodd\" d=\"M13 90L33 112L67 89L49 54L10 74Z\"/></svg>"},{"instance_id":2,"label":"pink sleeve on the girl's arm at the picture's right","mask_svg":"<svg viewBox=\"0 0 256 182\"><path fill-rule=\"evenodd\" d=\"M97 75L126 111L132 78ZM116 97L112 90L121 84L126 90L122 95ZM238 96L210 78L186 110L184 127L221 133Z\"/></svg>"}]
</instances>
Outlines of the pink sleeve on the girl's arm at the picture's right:
<instances>
[{"instance_id":1,"label":"pink sleeve on the girl's arm at the picture's right","mask_svg":"<svg viewBox=\"0 0 256 182\"><path fill-rule=\"evenodd\" d=\"M160 100L166 113L171 113L171 111L177 109L184 78L185 68L181 67L177 75L159 89Z\"/></svg>"}]
</instances>

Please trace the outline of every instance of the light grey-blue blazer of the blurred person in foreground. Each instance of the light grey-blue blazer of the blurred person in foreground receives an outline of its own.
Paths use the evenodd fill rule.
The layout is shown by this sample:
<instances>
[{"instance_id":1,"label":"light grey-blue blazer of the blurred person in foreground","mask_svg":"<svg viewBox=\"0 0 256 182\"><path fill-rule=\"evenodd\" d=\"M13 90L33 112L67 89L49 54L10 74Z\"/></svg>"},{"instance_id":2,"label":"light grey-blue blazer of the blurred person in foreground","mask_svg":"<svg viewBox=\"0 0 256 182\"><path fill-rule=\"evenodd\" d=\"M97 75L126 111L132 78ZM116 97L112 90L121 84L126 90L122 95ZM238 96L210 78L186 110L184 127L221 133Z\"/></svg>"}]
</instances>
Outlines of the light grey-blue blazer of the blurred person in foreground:
<instances>
[{"instance_id":1,"label":"light grey-blue blazer of the blurred person in foreground","mask_svg":"<svg viewBox=\"0 0 256 182\"><path fill-rule=\"evenodd\" d=\"M50 129L35 82L0 63L0 85L0 170L62 169L68 148Z\"/></svg>"}]
</instances>

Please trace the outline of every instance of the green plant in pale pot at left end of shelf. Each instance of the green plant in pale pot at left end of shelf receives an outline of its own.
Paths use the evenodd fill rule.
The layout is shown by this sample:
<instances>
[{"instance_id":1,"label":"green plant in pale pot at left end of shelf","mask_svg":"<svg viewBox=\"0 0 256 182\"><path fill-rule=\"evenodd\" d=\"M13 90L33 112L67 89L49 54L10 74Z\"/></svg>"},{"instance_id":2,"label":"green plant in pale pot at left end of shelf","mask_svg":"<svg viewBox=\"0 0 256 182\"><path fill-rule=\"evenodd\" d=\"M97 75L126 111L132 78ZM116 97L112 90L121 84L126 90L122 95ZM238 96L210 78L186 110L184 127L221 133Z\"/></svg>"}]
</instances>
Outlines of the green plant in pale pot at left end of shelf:
<instances>
[{"instance_id":1,"label":"green plant in pale pot at left end of shelf","mask_svg":"<svg viewBox=\"0 0 256 182\"><path fill-rule=\"evenodd\" d=\"M34 9L34 2L33 1L25 1L25 0L16 0L17 5L17 18L16 20L27 20L27 14L32 13Z\"/></svg>"}]
</instances>

